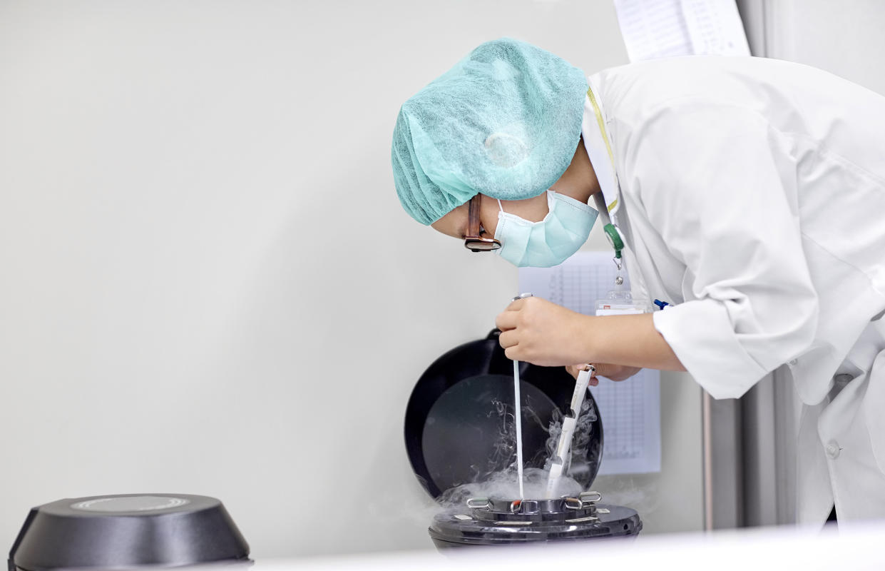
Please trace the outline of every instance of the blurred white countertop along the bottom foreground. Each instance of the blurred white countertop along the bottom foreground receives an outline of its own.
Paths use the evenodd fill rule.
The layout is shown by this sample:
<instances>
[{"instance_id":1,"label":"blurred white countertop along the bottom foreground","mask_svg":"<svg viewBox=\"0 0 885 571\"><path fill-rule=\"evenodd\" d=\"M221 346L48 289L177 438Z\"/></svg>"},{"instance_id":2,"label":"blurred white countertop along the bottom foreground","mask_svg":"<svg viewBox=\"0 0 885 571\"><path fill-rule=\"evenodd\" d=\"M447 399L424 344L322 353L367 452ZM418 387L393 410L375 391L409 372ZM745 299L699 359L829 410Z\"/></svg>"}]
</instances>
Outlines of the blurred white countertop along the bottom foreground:
<instances>
[{"instance_id":1,"label":"blurred white countertop along the bottom foreground","mask_svg":"<svg viewBox=\"0 0 885 571\"><path fill-rule=\"evenodd\" d=\"M346 532L345 532L346 533ZM342 541L347 541L342 537ZM540 548L455 549L434 552L373 553L341 558L270 559L255 571L289 569L489 568L643 569L663 571L758 571L758 569L885 569L885 521L835 528L793 527L719 531L708 534L640 536L638 540L594 540ZM573 565L574 567L568 567Z\"/></svg>"}]
</instances>

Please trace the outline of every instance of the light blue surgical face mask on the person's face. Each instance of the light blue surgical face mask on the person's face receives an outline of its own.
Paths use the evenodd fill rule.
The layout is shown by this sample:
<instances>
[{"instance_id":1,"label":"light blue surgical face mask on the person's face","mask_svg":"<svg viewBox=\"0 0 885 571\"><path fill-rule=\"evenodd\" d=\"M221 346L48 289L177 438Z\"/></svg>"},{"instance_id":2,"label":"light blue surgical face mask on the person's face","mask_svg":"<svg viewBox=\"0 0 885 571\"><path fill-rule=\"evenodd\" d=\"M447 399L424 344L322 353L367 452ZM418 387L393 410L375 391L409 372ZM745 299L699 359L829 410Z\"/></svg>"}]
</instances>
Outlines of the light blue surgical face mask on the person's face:
<instances>
[{"instance_id":1,"label":"light blue surgical face mask on the person's face","mask_svg":"<svg viewBox=\"0 0 885 571\"><path fill-rule=\"evenodd\" d=\"M529 222L504 212L498 201L498 224L495 238L501 242L497 253L515 266L550 267L566 258L587 242L596 212L588 204L547 191L550 212L540 222Z\"/></svg>"}]
</instances>

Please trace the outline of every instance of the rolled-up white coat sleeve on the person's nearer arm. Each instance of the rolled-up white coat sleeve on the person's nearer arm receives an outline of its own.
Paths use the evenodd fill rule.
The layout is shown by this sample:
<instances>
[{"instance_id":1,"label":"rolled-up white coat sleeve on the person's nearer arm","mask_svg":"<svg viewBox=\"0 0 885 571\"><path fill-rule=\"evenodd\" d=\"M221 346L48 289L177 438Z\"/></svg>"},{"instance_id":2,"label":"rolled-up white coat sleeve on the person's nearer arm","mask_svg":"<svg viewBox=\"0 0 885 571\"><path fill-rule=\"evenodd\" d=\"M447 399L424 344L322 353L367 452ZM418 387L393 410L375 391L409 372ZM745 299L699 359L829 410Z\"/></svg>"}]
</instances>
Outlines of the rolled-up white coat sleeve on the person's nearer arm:
<instances>
[{"instance_id":1,"label":"rolled-up white coat sleeve on the person's nearer arm","mask_svg":"<svg viewBox=\"0 0 885 571\"><path fill-rule=\"evenodd\" d=\"M817 327L789 137L751 110L693 102L634 137L627 184L687 268L686 301L655 313L655 328L713 397L740 397Z\"/></svg>"}]
</instances>

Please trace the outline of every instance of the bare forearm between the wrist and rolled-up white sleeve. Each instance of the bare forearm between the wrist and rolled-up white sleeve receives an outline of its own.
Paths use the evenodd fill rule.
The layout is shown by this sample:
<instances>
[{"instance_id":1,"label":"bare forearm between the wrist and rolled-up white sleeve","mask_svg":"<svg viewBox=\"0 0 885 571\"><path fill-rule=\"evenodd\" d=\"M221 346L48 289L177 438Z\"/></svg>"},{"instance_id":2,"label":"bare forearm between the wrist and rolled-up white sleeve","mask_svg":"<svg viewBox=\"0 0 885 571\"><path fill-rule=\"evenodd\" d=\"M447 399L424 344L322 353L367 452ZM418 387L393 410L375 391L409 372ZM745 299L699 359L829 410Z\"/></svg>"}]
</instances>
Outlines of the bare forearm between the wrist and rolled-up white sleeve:
<instances>
[{"instance_id":1,"label":"bare forearm between the wrist and rolled-up white sleeve","mask_svg":"<svg viewBox=\"0 0 885 571\"><path fill-rule=\"evenodd\" d=\"M612 363L663 371L684 371L673 349L655 329L651 313L581 316L578 336L586 362Z\"/></svg>"}]
</instances>

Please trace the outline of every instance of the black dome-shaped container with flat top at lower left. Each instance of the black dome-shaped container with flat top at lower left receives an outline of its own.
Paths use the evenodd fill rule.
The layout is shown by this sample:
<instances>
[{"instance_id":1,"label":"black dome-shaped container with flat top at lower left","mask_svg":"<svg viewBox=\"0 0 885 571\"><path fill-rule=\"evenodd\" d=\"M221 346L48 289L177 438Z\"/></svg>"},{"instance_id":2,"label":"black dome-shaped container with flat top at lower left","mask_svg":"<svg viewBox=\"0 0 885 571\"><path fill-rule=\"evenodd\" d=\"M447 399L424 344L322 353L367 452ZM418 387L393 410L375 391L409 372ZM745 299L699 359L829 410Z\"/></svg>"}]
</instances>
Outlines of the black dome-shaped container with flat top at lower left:
<instances>
[{"instance_id":1,"label":"black dome-shaped container with flat top at lower left","mask_svg":"<svg viewBox=\"0 0 885 571\"><path fill-rule=\"evenodd\" d=\"M10 571L177 567L249 561L249 544L218 499L127 494L60 499L31 510Z\"/></svg>"}]
</instances>

